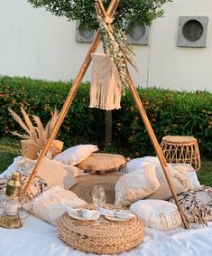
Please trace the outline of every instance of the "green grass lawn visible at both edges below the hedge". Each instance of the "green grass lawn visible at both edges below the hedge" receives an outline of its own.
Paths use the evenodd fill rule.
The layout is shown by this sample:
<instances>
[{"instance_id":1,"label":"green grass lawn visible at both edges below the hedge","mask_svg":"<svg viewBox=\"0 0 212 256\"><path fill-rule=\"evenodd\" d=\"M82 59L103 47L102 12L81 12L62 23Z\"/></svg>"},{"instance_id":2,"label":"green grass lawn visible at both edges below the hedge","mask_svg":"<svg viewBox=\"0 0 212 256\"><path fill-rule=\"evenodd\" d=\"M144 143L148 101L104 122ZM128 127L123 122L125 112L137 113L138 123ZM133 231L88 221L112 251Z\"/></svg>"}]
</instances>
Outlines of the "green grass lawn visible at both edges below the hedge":
<instances>
[{"instance_id":1,"label":"green grass lawn visible at both edges below the hedge","mask_svg":"<svg viewBox=\"0 0 212 256\"><path fill-rule=\"evenodd\" d=\"M13 163L14 157L21 154L20 142L11 137L0 138L0 173ZM200 184L212 186L212 159L202 159L198 172Z\"/></svg>"}]
</instances>

